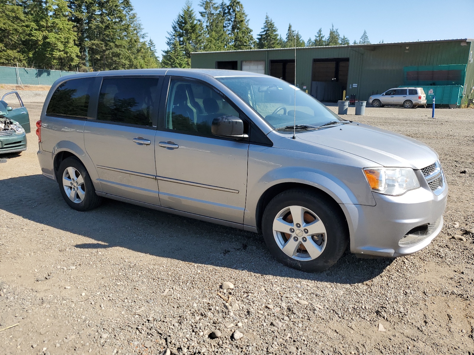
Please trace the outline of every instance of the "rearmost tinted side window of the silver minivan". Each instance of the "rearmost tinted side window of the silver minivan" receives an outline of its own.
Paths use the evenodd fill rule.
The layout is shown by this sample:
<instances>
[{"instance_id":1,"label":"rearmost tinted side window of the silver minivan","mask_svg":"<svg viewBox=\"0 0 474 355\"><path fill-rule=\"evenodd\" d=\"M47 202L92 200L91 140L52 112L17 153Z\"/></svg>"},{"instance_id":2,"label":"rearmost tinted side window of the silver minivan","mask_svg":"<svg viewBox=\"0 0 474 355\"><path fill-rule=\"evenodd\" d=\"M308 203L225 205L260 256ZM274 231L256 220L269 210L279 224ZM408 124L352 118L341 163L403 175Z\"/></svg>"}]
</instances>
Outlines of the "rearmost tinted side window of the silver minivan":
<instances>
[{"instance_id":1,"label":"rearmost tinted side window of the silver minivan","mask_svg":"<svg viewBox=\"0 0 474 355\"><path fill-rule=\"evenodd\" d=\"M87 118L94 78L64 81L49 100L46 115Z\"/></svg>"}]
</instances>

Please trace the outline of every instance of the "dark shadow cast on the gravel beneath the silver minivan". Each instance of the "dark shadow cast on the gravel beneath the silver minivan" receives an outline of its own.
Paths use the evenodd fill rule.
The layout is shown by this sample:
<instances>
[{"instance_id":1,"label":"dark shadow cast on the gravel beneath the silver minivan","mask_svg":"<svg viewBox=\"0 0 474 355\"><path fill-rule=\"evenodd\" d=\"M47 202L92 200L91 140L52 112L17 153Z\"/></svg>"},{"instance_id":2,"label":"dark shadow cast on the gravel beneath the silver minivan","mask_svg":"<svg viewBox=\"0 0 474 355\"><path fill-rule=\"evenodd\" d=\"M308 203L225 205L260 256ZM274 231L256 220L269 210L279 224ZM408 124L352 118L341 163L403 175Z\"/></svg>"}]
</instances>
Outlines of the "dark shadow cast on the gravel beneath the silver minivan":
<instances>
[{"instance_id":1,"label":"dark shadow cast on the gravel beneath the silver minivan","mask_svg":"<svg viewBox=\"0 0 474 355\"><path fill-rule=\"evenodd\" d=\"M340 284L368 281L381 274L392 261L359 259L346 251L329 270L304 273L278 263L261 235L252 232L109 199L104 199L93 211L77 212L64 202L55 181L39 174L12 177L1 185L1 209L66 232L66 243L69 233L95 240L73 245L78 249L128 248L197 264Z\"/></svg>"}]
</instances>

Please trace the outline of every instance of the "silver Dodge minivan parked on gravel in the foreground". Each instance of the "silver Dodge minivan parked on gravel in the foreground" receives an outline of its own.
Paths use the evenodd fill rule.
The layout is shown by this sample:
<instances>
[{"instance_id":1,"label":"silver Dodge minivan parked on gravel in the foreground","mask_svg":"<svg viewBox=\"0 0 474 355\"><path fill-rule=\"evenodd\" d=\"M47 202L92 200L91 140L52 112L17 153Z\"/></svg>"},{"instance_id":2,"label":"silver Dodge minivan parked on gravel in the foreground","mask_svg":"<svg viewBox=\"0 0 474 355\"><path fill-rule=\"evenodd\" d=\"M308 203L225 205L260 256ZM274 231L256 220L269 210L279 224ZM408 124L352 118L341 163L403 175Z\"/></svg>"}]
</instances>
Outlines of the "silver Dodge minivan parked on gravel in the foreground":
<instances>
[{"instance_id":1,"label":"silver Dodge minivan parked on gravel in the foreground","mask_svg":"<svg viewBox=\"0 0 474 355\"><path fill-rule=\"evenodd\" d=\"M271 76L74 74L52 86L36 125L42 172L73 209L107 197L258 232L276 259L304 271L327 269L347 245L412 254L443 226L435 151L345 121Z\"/></svg>"}]
</instances>

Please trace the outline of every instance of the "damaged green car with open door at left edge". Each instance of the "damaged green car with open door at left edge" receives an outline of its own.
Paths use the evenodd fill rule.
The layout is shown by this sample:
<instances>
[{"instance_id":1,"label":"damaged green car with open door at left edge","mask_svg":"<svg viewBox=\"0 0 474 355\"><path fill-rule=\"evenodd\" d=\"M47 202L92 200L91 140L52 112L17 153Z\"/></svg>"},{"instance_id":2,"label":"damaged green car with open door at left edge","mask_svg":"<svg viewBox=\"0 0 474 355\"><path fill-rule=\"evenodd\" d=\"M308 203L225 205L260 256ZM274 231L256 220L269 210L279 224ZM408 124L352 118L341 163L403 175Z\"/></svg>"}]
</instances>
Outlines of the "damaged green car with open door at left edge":
<instances>
[{"instance_id":1,"label":"damaged green car with open door at left edge","mask_svg":"<svg viewBox=\"0 0 474 355\"><path fill-rule=\"evenodd\" d=\"M27 150L30 123L28 110L17 91L3 95L0 100L0 154Z\"/></svg>"}]
</instances>

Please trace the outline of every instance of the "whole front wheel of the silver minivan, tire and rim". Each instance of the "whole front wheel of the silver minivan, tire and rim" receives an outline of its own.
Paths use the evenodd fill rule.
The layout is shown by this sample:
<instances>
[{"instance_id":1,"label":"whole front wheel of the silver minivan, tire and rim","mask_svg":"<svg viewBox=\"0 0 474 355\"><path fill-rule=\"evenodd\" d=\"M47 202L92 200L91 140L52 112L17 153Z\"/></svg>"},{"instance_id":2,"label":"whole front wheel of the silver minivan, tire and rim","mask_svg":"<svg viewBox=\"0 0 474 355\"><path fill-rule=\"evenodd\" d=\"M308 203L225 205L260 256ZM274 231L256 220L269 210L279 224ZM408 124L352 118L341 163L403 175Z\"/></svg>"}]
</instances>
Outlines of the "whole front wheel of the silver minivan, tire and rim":
<instances>
[{"instance_id":1,"label":"whole front wheel of the silver minivan, tire and rim","mask_svg":"<svg viewBox=\"0 0 474 355\"><path fill-rule=\"evenodd\" d=\"M273 257L306 272L334 265L348 240L346 220L334 202L302 189L284 191L270 201L262 232Z\"/></svg>"}]
</instances>

